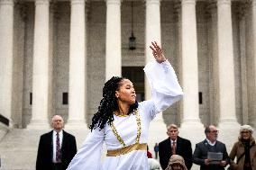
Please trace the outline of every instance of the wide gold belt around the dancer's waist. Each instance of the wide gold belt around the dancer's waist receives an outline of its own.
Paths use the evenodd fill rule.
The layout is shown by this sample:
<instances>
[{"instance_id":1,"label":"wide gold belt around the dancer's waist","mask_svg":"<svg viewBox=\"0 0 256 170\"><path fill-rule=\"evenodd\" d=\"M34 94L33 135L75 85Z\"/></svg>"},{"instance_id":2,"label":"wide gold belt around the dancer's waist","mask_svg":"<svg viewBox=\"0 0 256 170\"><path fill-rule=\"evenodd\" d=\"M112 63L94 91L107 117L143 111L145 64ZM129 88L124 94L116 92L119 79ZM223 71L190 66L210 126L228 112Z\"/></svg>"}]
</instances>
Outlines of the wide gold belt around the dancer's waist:
<instances>
[{"instance_id":1,"label":"wide gold belt around the dancer's waist","mask_svg":"<svg viewBox=\"0 0 256 170\"><path fill-rule=\"evenodd\" d=\"M129 152L132 152L133 150L147 150L147 144L146 143L135 143L133 145L129 145L127 147L118 148L115 150L107 150L106 157L116 157L124 154L128 154Z\"/></svg>"}]
</instances>

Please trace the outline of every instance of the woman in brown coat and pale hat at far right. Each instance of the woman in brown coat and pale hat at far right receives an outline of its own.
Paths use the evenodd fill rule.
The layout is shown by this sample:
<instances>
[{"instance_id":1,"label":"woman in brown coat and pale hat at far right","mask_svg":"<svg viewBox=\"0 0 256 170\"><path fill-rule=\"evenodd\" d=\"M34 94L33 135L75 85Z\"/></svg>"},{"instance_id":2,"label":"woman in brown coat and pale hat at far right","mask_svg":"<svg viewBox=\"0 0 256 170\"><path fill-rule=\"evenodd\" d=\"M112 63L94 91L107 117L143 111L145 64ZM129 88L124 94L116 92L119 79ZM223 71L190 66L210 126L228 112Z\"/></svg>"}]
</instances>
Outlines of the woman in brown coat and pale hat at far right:
<instances>
[{"instance_id":1,"label":"woman in brown coat and pale hat at far right","mask_svg":"<svg viewBox=\"0 0 256 170\"><path fill-rule=\"evenodd\" d=\"M230 166L233 170L256 170L256 145L252 138L250 125L242 125L238 141L233 144L229 154ZM236 157L236 163L233 161Z\"/></svg>"}]
</instances>

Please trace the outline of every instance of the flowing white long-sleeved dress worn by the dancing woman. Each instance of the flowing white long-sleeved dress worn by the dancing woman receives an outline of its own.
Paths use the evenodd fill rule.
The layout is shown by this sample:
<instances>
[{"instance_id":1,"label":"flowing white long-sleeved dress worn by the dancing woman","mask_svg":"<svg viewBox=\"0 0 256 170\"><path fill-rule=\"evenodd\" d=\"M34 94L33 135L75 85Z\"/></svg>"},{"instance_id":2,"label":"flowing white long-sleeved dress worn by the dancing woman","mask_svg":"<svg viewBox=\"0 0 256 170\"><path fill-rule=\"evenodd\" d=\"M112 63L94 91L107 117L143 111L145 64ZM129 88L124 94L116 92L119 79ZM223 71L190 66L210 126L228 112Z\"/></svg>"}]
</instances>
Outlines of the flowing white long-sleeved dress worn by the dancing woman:
<instances>
[{"instance_id":1,"label":"flowing white long-sleeved dress worn by the dancing woman","mask_svg":"<svg viewBox=\"0 0 256 170\"><path fill-rule=\"evenodd\" d=\"M182 96L182 89L169 61L150 62L144 72L151 85L151 100L139 103L138 112L141 120L142 134L139 143L147 143L150 122L156 113L166 110ZM114 115L114 127L126 146L133 145L137 138L137 121L134 114L127 117ZM125 155L105 157L101 163L102 146L107 150L123 148L114 135L112 128L106 124L105 129L92 130L84 141L77 155L69 164L68 170L149 170L145 150L133 150Z\"/></svg>"}]
</instances>

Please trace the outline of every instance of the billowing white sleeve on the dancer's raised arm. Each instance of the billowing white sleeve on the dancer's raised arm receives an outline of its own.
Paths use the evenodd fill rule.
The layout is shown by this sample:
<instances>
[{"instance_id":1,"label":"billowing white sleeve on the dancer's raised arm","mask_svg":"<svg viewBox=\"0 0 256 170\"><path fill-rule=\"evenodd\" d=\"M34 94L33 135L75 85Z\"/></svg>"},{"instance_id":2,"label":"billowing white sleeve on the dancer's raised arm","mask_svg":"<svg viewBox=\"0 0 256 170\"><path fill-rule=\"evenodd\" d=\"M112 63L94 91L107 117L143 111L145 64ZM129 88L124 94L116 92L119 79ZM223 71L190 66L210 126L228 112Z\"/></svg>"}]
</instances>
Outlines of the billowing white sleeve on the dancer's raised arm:
<instances>
[{"instance_id":1,"label":"billowing white sleeve on the dancer's raised arm","mask_svg":"<svg viewBox=\"0 0 256 170\"><path fill-rule=\"evenodd\" d=\"M152 61L144 67L144 72L151 85L151 100L155 105L155 112L162 112L181 99L183 92L168 60L162 63Z\"/></svg>"}]
</instances>

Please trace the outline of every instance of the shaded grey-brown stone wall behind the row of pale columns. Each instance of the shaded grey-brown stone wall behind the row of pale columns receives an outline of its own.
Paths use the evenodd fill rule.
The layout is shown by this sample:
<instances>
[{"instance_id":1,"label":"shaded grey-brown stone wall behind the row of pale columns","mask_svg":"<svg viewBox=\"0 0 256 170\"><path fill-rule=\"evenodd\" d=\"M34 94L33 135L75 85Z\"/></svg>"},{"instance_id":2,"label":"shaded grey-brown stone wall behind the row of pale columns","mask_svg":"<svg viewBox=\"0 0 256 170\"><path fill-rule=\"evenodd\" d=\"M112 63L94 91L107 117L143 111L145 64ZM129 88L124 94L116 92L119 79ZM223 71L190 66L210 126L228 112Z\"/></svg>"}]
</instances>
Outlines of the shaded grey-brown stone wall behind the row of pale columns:
<instances>
[{"instance_id":1,"label":"shaded grey-brown stone wall behind the row of pale columns","mask_svg":"<svg viewBox=\"0 0 256 170\"><path fill-rule=\"evenodd\" d=\"M26 127L31 119L32 105L29 103L32 92L32 47L33 47L33 27L34 27L34 4L33 2L23 3L24 16L19 16L18 7L15 7L15 29L14 39L15 58L18 63L14 77L14 89L19 98L15 98L13 120L18 127ZM253 76L250 32L251 16L250 10L245 15L245 55L247 67L247 90L248 90L248 117L242 115L242 84L241 78L241 42L240 42L240 18L237 12L238 3L233 3L233 49L234 49L234 73L235 73L235 101L236 117L240 123L252 122L255 118L255 104L253 104L254 85L250 77ZM53 55L53 111L49 113L60 114L67 121L69 116L69 105L62 104L62 93L69 91L69 30L70 30L70 4L69 2L57 2L50 5L53 13L52 35L52 55ZM90 124L91 117L96 112L101 99L102 87L105 83L105 1L92 1L87 4L87 124ZM145 31L145 4L143 2L134 3L134 36L137 40L137 49L128 49L128 39L131 36L131 3L122 2L122 66L142 67L145 64L144 57L144 31ZM180 40L178 35L178 19L180 6L171 1L162 1L160 5L161 16L161 39L162 48L166 57L169 58L180 79ZM213 62L215 59L215 49L213 42L211 24L211 9L208 2L197 2L197 54L198 54L198 78L199 92L203 93L203 103L199 104L199 117L203 124L217 123L219 113L215 109L215 88L213 87ZM19 43L18 43L19 42ZM23 68L19 66L23 66ZM216 68L215 68L216 69ZM22 82L22 83L21 83ZM18 85L21 85L23 92L19 93ZM23 85L22 85L23 84ZM21 88L20 86L20 88ZM182 109L180 103L173 105L163 113L166 124L182 121ZM246 121L247 120L247 121Z\"/></svg>"}]
</instances>

